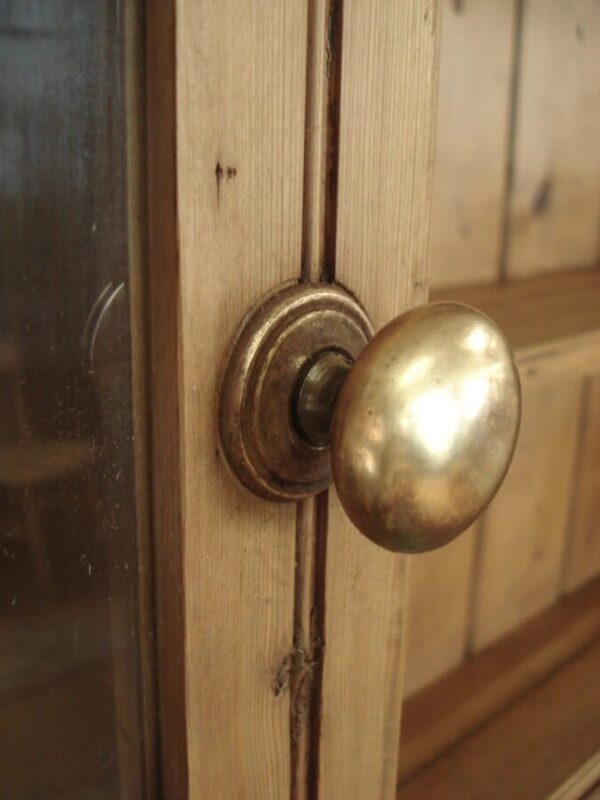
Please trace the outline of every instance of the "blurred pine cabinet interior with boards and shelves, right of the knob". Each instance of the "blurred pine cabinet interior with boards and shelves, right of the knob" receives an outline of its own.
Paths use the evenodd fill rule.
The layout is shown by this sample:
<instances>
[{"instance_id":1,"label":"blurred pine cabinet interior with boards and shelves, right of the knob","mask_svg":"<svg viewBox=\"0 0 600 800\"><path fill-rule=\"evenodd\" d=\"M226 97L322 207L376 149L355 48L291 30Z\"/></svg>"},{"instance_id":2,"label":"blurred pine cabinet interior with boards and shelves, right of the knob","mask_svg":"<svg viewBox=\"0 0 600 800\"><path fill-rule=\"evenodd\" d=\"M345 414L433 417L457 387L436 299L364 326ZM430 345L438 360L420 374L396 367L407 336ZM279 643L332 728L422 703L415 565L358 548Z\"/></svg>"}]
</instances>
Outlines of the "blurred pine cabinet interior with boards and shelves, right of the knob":
<instances>
[{"instance_id":1,"label":"blurred pine cabinet interior with boards and shelves, right of the knob","mask_svg":"<svg viewBox=\"0 0 600 800\"><path fill-rule=\"evenodd\" d=\"M503 327L523 418L483 518L411 559L400 797L600 778L598 12L443 3L432 297Z\"/></svg>"}]
</instances>

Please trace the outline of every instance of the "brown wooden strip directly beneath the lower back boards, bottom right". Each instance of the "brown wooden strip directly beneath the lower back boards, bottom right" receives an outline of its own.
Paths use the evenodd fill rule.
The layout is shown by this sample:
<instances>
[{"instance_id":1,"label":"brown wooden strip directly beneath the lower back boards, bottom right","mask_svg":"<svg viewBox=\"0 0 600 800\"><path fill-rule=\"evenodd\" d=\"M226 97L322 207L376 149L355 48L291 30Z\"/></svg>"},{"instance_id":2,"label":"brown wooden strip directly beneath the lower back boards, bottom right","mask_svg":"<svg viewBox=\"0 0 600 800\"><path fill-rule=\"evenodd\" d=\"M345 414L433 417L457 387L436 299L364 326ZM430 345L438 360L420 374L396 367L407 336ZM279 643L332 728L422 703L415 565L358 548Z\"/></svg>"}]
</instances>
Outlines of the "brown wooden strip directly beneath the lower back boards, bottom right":
<instances>
[{"instance_id":1,"label":"brown wooden strip directly beneath the lower back boards, bottom right","mask_svg":"<svg viewBox=\"0 0 600 800\"><path fill-rule=\"evenodd\" d=\"M574 592L412 697L403 713L406 781L600 638L600 582Z\"/></svg>"}]
</instances>

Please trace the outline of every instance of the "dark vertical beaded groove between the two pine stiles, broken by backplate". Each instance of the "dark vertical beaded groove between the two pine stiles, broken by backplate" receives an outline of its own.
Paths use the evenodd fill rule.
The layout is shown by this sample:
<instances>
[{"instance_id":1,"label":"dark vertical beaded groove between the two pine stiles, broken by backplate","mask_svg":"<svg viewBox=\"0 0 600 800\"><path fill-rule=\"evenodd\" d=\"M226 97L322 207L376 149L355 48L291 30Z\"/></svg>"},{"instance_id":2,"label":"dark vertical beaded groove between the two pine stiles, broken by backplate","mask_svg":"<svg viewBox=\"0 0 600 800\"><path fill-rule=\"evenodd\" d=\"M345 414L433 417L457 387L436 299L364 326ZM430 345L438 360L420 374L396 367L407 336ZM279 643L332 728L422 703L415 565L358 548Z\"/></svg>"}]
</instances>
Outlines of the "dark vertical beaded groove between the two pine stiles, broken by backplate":
<instances>
[{"instance_id":1,"label":"dark vertical beaded groove between the two pine stiles, broken by backplate","mask_svg":"<svg viewBox=\"0 0 600 800\"><path fill-rule=\"evenodd\" d=\"M308 0L303 281L335 277L343 0ZM316 78L316 80L315 80ZM298 505L289 656L291 800L318 800L328 495Z\"/></svg>"}]
</instances>

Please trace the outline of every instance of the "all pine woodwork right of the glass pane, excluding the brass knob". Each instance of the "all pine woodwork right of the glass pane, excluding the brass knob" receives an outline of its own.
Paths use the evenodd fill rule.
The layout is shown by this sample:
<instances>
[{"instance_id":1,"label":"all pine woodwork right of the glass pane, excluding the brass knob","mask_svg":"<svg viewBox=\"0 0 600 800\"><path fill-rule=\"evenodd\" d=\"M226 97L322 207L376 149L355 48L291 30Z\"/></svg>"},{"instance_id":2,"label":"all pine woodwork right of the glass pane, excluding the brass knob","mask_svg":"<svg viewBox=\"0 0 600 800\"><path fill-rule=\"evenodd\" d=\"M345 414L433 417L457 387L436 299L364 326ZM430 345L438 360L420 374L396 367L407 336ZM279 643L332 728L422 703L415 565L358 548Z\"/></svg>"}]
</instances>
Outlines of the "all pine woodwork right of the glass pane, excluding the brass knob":
<instances>
[{"instance_id":1,"label":"all pine woodwork right of the glass pane, excluding the brass knob","mask_svg":"<svg viewBox=\"0 0 600 800\"><path fill-rule=\"evenodd\" d=\"M600 748L597 590L571 594L600 571L597 5L178 0L148 28L165 791L392 797L399 752L401 797L579 796ZM411 559L403 647L406 560L334 492L245 495L214 418L276 284L340 281L379 326L428 278L507 331L524 416L483 519Z\"/></svg>"}]
</instances>

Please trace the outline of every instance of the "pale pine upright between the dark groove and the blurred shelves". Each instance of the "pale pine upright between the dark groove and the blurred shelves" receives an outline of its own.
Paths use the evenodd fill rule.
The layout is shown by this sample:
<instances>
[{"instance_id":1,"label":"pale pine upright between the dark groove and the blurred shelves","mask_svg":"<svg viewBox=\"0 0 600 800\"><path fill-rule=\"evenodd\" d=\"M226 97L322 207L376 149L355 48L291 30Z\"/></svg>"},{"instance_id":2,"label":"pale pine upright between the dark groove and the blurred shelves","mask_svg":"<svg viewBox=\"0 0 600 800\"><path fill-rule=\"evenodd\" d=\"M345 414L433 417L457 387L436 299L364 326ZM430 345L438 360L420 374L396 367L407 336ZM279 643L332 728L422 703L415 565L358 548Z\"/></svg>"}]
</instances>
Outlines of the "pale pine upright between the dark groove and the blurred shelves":
<instances>
[{"instance_id":1,"label":"pale pine upright between the dark groove and the blurred shelves","mask_svg":"<svg viewBox=\"0 0 600 800\"><path fill-rule=\"evenodd\" d=\"M347 0L342 25L336 278L379 326L426 294L436 3ZM405 568L331 499L320 800L394 796Z\"/></svg>"}]
</instances>

